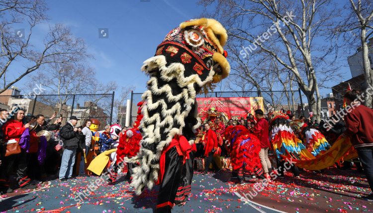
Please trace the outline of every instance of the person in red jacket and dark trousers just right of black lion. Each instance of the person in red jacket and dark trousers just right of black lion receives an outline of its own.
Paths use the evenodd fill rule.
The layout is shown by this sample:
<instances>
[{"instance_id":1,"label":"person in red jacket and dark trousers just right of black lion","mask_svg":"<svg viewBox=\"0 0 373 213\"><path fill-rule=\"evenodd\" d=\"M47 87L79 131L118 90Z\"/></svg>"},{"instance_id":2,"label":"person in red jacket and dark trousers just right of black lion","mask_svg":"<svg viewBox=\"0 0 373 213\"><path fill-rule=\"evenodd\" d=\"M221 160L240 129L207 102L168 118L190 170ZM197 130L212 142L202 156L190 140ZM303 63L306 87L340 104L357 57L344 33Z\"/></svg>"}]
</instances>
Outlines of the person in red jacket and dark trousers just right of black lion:
<instances>
[{"instance_id":1,"label":"person in red jacket and dark trousers just right of black lion","mask_svg":"<svg viewBox=\"0 0 373 213\"><path fill-rule=\"evenodd\" d=\"M211 162L212 162L212 166L215 168L215 171L219 170L215 161L213 161L214 153L218 148L218 140L217 140L216 133L210 129L210 125L208 123L204 124L204 129L205 129L205 136L204 136L204 140L202 141L202 144L204 146L205 166L204 166L204 172L202 174L206 175Z\"/></svg>"}]
</instances>

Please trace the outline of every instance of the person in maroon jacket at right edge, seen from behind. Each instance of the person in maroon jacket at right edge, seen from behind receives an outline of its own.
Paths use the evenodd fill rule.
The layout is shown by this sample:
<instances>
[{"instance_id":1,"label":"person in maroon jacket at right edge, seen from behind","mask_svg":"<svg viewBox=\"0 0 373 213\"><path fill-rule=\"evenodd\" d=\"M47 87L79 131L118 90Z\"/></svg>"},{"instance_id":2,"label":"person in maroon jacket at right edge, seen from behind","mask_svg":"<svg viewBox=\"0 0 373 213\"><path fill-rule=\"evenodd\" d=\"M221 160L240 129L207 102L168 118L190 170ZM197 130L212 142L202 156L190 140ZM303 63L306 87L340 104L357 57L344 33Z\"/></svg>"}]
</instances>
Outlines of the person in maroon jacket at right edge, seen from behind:
<instances>
[{"instance_id":1,"label":"person in maroon jacket at right edge, seen from behind","mask_svg":"<svg viewBox=\"0 0 373 213\"><path fill-rule=\"evenodd\" d=\"M358 98L361 96L357 90L348 91L344 97L348 104L344 135L350 137L351 143L358 151L369 186L373 192L373 109L360 104ZM373 194L362 198L373 202Z\"/></svg>"}]
</instances>

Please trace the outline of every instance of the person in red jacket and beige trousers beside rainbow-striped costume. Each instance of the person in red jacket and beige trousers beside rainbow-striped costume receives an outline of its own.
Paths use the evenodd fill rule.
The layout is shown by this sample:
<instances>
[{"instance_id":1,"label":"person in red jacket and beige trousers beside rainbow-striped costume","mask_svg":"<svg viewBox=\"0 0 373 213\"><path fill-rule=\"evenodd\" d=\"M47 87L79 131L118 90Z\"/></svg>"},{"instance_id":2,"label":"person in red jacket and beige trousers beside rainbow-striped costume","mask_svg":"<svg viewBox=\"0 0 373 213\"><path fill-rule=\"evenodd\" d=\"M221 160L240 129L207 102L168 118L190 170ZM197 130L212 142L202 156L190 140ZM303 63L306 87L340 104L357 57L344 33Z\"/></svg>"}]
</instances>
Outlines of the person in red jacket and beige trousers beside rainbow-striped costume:
<instances>
[{"instance_id":1,"label":"person in red jacket and beige trousers beside rainbow-striped costume","mask_svg":"<svg viewBox=\"0 0 373 213\"><path fill-rule=\"evenodd\" d=\"M269 140L269 124L264 118L264 112L262 109L255 110L255 117L257 118L257 123L252 131L260 141L261 150L259 152L259 158L264 170L264 176L267 179L271 179L269 173L272 172L272 165L268 158L268 149L271 146Z\"/></svg>"}]
</instances>

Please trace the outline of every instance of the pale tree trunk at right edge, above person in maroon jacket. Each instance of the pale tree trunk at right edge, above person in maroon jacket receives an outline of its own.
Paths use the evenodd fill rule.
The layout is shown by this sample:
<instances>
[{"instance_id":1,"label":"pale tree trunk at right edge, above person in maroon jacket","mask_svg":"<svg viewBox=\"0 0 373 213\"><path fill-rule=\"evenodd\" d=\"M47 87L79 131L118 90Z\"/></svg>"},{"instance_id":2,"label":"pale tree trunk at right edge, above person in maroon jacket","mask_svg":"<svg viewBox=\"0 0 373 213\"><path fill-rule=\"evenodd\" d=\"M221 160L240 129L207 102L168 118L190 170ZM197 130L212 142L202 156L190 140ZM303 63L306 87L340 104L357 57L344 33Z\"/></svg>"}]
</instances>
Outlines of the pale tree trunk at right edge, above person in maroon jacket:
<instances>
[{"instance_id":1,"label":"pale tree trunk at right edge, above person in maroon jacket","mask_svg":"<svg viewBox=\"0 0 373 213\"><path fill-rule=\"evenodd\" d=\"M363 49L363 67L364 67L364 75L365 75L365 82L367 85L367 89L373 85L373 70L371 69L371 64L369 62L368 54L369 54L369 47L367 44L367 29L366 27L362 27L360 39L362 42L362 49ZM365 106L372 108L372 96L365 95Z\"/></svg>"}]
</instances>

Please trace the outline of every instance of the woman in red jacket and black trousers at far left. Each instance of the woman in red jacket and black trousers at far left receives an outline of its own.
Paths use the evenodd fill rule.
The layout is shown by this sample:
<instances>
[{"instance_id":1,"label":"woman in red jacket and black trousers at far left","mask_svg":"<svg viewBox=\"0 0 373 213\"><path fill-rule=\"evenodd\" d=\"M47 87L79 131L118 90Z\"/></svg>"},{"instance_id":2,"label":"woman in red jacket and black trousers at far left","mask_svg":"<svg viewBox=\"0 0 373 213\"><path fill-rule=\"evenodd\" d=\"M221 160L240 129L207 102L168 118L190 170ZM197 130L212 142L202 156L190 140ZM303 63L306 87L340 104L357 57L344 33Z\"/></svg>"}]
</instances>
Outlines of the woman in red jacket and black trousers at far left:
<instances>
[{"instance_id":1,"label":"woman in red jacket and black trousers at far left","mask_svg":"<svg viewBox=\"0 0 373 213\"><path fill-rule=\"evenodd\" d=\"M17 108L17 113L13 119L8 120L3 126L4 142L12 143L19 142L19 139L26 128L30 127L29 123L23 125L22 119L24 117L24 110ZM19 187L24 189L36 188L35 185L30 184L31 179L27 176L27 154L26 151L21 150L21 153L5 157L6 174L9 175L11 169L17 167L17 183Z\"/></svg>"}]
</instances>

